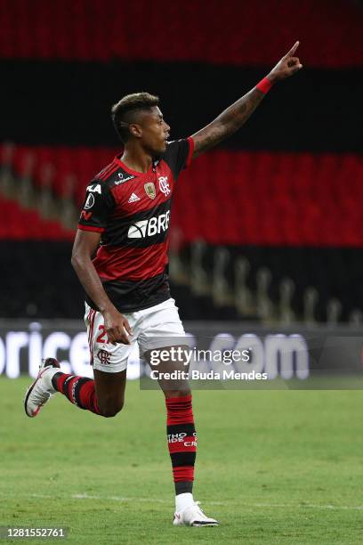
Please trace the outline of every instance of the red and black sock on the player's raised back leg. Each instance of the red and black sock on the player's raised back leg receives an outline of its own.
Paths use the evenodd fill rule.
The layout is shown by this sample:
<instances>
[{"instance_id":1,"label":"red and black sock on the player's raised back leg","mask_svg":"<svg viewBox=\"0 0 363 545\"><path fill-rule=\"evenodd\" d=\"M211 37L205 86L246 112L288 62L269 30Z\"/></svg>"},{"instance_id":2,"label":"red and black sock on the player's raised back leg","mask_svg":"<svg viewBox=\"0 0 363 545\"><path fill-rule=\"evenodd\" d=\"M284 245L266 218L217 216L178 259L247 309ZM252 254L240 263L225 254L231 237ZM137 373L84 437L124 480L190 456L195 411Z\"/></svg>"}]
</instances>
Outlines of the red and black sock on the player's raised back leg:
<instances>
[{"instance_id":1,"label":"red and black sock on the player's raised back leg","mask_svg":"<svg viewBox=\"0 0 363 545\"><path fill-rule=\"evenodd\" d=\"M92 378L56 373L52 379L52 383L60 394L68 397L70 403L77 405L80 409L100 414L94 389L94 380Z\"/></svg>"}]
</instances>

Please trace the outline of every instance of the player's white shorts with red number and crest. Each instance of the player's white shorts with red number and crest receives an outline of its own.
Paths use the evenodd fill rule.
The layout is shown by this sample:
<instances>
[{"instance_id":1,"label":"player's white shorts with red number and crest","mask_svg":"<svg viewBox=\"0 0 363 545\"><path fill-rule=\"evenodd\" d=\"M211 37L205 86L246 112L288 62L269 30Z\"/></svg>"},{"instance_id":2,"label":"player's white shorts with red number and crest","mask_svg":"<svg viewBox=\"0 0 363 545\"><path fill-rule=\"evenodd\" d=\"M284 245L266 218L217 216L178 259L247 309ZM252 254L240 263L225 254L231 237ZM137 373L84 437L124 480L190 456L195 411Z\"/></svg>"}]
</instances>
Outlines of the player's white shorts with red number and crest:
<instances>
[{"instance_id":1,"label":"player's white shorts with red number and crest","mask_svg":"<svg viewBox=\"0 0 363 545\"><path fill-rule=\"evenodd\" d=\"M133 336L129 337L130 345L121 343L111 345L107 342L102 314L85 303L85 325L93 369L107 373L125 370L136 342L140 354L153 348L183 344L178 342L178 338L183 338L185 333L173 298L159 305L124 315L133 329Z\"/></svg>"}]
</instances>

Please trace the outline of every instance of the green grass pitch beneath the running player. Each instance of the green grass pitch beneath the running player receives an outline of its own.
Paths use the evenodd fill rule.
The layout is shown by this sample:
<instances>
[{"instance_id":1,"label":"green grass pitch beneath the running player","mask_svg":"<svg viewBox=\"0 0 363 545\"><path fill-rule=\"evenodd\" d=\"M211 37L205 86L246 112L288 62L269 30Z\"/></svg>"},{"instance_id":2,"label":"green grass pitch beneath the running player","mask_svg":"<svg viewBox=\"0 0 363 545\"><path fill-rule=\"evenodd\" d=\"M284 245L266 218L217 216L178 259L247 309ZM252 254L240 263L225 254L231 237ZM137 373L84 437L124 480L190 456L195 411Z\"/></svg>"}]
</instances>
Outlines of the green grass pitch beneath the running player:
<instances>
[{"instance_id":1,"label":"green grass pitch beneath the running player","mask_svg":"<svg viewBox=\"0 0 363 545\"><path fill-rule=\"evenodd\" d=\"M56 395L28 419L28 382L0 379L0 525L64 525L69 544L363 540L361 391L194 392L195 498L221 525L175 528L159 392L128 383L114 419Z\"/></svg>"}]
</instances>

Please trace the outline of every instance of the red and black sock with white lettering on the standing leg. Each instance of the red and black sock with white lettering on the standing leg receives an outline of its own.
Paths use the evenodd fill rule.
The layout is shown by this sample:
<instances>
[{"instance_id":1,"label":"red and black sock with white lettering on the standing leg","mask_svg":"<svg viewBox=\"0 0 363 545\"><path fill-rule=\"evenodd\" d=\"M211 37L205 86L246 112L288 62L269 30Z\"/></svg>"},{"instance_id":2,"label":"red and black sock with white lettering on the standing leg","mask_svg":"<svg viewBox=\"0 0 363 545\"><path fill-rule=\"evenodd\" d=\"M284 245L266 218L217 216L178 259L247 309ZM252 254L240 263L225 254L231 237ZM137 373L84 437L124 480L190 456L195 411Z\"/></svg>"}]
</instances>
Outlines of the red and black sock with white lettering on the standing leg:
<instances>
[{"instance_id":1,"label":"red and black sock with white lettering on the standing leg","mask_svg":"<svg viewBox=\"0 0 363 545\"><path fill-rule=\"evenodd\" d=\"M191 395L165 399L167 442L177 494L191 492L197 452Z\"/></svg>"}]
</instances>

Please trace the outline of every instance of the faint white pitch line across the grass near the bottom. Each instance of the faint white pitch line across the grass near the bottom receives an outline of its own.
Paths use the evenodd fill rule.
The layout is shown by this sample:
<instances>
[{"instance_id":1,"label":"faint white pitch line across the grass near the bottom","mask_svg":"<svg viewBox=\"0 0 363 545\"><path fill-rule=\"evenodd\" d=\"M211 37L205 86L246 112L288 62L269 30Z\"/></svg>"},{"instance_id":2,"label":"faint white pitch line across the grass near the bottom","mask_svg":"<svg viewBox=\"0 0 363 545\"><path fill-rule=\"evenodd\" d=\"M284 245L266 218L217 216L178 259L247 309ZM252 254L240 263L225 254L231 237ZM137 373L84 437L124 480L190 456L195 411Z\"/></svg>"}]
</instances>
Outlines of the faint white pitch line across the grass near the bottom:
<instances>
[{"instance_id":1,"label":"faint white pitch line across the grass near the bottom","mask_svg":"<svg viewBox=\"0 0 363 545\"><path fill-rule=\"evenodd\" d=\"M44 498L54 499L51 494L30 494L32 498ZM157 498L130 498L124 496L98 496L89 494L72 494L68 497L69 500L104 500L104 501L119 501L119 502L140 502L140 503L165 503L171 505L173 502L170 500L159 500ZM297 509L330 509L330 510L353 510L363 511L363 505L349 506L349 505L330 505L330 504L316 504L316 503L240 503L238 501L208 501L208 505L239 505L246 508L297 508Z\"/></svg>"}]
</instances>

